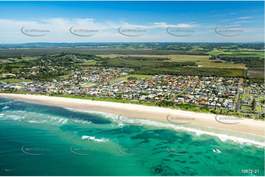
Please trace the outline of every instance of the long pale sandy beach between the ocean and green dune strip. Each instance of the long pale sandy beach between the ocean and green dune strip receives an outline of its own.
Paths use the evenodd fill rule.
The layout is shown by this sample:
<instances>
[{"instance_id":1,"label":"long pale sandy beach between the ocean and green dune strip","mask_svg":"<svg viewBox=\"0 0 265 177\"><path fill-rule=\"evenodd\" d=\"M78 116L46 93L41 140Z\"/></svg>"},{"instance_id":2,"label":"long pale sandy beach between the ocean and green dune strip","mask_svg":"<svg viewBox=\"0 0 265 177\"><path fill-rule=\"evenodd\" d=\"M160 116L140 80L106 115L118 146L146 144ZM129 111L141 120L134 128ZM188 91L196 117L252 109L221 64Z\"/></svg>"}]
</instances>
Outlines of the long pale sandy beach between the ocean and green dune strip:
<instances>
[{"instance_id":1,"label":"long pale sandy beach between the ocean and green dune strip","mask_svg":"<svg viewBox=\"0 0 265 177\"><path fill-rule=\"evenodd\" d=\"M91 111L100 111L105 113L111 113L115 115L130 116L130 117L141 117L147 120L153 121L167 121L167 117L171 122L174 123L197 123L207 127L220 128L220 129L230 129L235 131L241 131L246 133L253 133L256 135L264 136L264 121L255 121L253 119L243 120L222 120L220 118L227 117L225 115L205 114L205 113L195 113L190 111L182 111L176 109L169 109L163 107L151 107L143 105L132 105L124 103L114 103L106 101L92 101L84 99L71 99L63 97L48 97L42 95L21 95L21 94L6 94L0 93L0 97L12 98L18 101L29 101L32 103L47 104L62 106L65 108L72 109L83 109ZM169 115L170 114L170 115ZM176 121L171 118L182 117L182 118L193 118L192 120ZM218 121L216 121L216 119ZM167 121L170 123L169 121ZM171 124L174 124L171 123ZM236 123L236 124L225 124L225 123ZM178 124L176 124L178 125Z\"/></svg>"}]
</instances>

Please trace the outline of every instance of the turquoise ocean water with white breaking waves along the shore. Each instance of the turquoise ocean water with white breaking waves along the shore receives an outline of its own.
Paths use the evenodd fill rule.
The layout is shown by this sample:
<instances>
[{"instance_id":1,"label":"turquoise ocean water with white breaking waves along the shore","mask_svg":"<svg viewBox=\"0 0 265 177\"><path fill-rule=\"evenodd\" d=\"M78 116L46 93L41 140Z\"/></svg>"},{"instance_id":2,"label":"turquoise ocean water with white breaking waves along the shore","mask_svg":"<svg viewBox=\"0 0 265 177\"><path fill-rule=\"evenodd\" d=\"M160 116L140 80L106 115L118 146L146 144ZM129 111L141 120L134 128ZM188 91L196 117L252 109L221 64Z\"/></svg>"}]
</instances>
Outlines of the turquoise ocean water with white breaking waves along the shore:
<instances>
[{"instance_id":1,"label":"turquoise ocean water with white breaking waves along the shore","mask_svg":"<svg viewBox=\"0 0 265 177\"><path fill-rule=\"evenodd\" d=\"M26 117L46 120L25 120L42 123L29 124L21 120L22 115L23 120ZM70 120L71 115L86 120L75 123ZM107 113L0 97L0 175L264 176L262 136L239 133L241 137L235 138L213 131L206 133L205 127L151 121L124 124L117 116ZM91 155L75 154L70 151L71 146L75 153ZM175 154L167 151L168 146ZM216 146L217 152L237 155L217 153ZM26 153L42 155L26 154L21 148ZM219 151L219 148L237 151ZM259 170L259 173L241 170Z\"/></svg>"}]
</instances>

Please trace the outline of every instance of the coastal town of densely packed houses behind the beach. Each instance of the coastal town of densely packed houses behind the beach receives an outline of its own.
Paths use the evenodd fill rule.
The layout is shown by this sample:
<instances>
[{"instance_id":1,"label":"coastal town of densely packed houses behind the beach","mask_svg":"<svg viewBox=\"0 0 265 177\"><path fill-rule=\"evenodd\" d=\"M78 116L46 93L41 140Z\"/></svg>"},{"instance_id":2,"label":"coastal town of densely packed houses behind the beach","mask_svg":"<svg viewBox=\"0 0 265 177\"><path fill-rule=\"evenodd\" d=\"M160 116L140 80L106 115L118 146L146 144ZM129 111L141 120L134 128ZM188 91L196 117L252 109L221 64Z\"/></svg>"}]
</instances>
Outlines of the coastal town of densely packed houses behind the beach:
<instances>
[{"instance_id":1,"label":"coastal town of densely packed houses behind the beach","mask_svg":"<svg viewBox=\"0 0 265 177\"><path fill-rule=\"evenodd\" d=\"M40 70L67 74L52 78L49 82L26 79L29 75L41 74ZM130 68L36 65L3 74L0 89L126 99L176 107L189 105L201 110L227 110L258 117L264 115L264 84L247 85L243 78L134 75L130 74L131 71ZM14 79L19 83L9 83Z\"/></svg>"}]
</instances>

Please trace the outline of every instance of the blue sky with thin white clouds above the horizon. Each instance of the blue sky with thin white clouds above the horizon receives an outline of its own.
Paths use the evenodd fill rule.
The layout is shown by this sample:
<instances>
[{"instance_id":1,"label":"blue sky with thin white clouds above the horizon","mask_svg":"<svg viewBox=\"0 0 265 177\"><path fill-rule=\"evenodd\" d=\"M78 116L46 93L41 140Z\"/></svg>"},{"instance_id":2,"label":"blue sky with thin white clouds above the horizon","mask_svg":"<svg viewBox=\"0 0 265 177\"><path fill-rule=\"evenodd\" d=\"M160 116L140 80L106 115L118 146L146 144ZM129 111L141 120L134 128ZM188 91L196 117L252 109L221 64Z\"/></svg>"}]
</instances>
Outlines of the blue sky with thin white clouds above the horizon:
<instances>
[{"instance_id":1,"label":"blue sky with thin white clouds above the horizon","mask_svg":"<svg viewBox=\"0 0 265 177\"><path fill-rule=\"evenodd\" d=\"M264 21L264 1L0 1L0 44L254 42Z\"/></svg>"}]
</instances>

